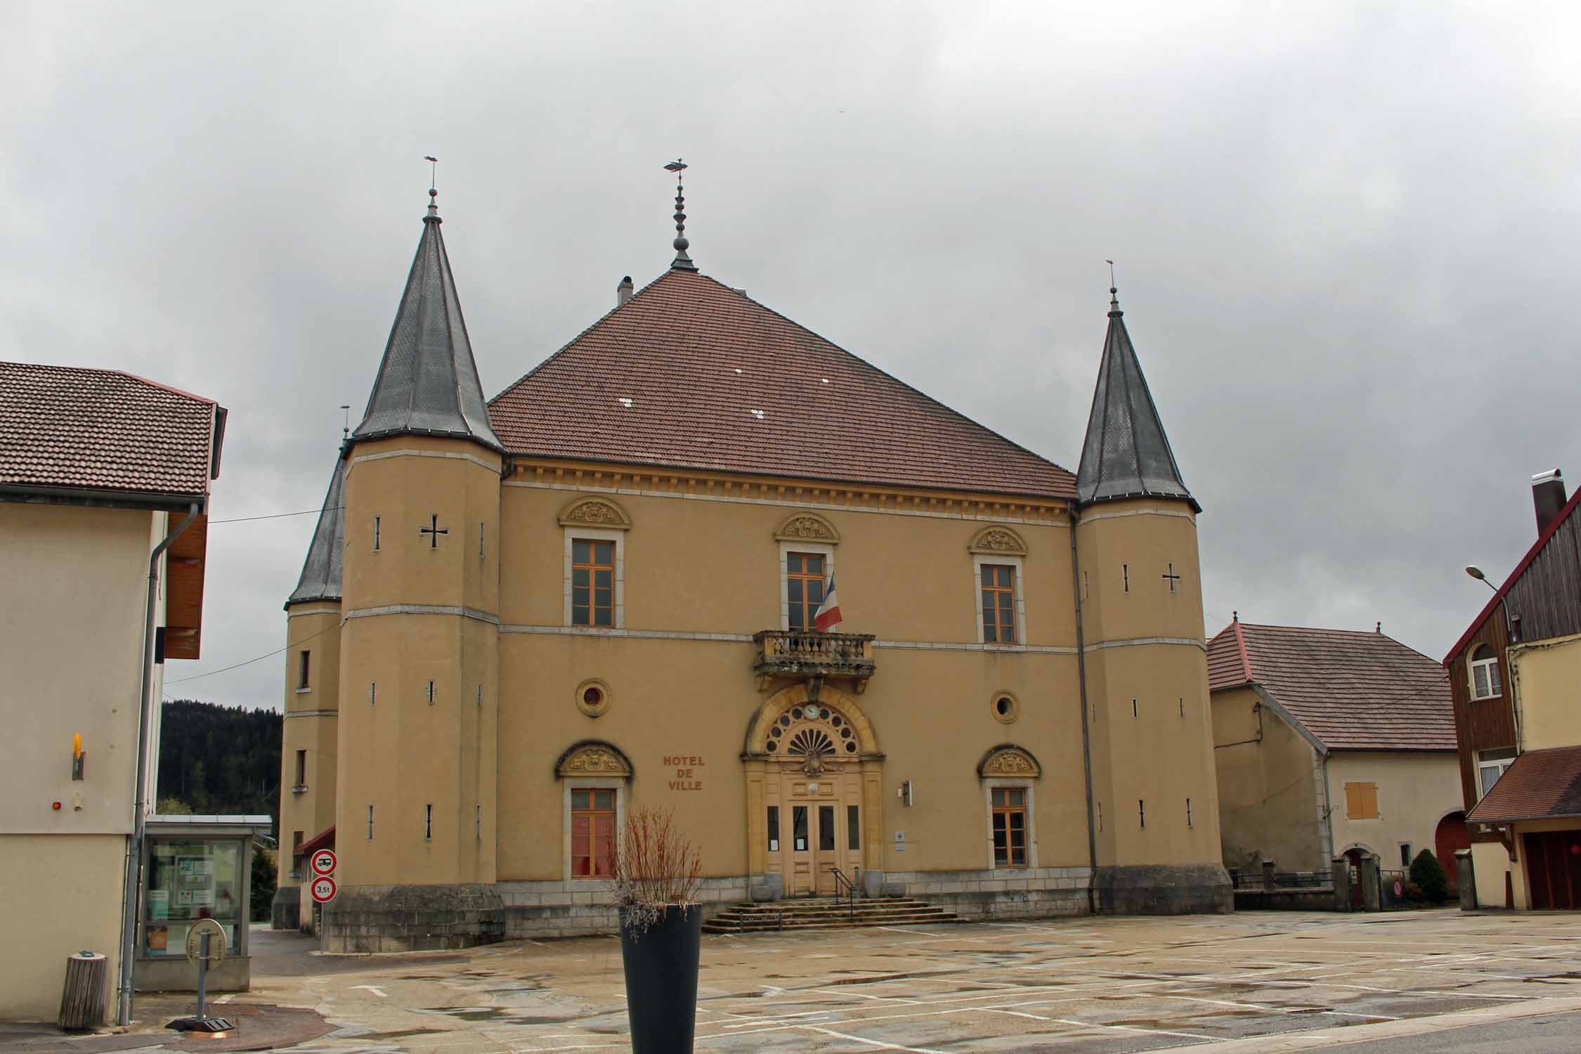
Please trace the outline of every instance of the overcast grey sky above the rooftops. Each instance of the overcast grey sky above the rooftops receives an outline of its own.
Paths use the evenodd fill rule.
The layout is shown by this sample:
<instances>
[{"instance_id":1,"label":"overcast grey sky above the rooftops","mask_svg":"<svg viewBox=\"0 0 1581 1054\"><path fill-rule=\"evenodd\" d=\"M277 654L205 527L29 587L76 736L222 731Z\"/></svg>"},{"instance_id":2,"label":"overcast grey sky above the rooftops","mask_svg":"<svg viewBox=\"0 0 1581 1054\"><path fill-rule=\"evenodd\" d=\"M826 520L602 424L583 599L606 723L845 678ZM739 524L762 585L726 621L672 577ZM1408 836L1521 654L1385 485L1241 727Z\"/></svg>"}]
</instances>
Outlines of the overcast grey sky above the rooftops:
<instances>
[{"instance_id":1,"label":"overcast grey sky above the rooftops","mask_svg":"<svg viewBox=\"0 0 1581 1054\"><path fill-rule=\"evenodd\" d=\"M1442 657L1581 482L1575 5L5 0L0 357L231 409L313 509L440 164L487 395L669 262L1073 469L1108 275L1203 504L1208 632ZM210 529L171 697L278 706L313 517Z\"/></svg>"}]
</instances>

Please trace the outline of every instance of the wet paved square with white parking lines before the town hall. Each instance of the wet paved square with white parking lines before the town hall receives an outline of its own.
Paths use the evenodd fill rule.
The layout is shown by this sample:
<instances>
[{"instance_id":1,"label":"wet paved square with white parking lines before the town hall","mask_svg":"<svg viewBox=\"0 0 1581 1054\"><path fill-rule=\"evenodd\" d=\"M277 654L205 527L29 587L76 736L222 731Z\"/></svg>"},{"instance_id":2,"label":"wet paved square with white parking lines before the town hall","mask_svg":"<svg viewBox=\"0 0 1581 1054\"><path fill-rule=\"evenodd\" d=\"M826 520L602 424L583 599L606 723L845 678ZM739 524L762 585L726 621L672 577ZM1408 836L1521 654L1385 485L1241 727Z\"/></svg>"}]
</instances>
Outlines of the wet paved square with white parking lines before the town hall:
<instances>
[{"instance_id":1,"label":"wet paved square with white parking lines before the town hall","mask_svg":"<svg viewBox=\"0 0 1581 1054\"><path fill-rule=\"evenodd\" d=\"M338 1027L296 1051L629 1049L613 939L402 958L261 943L281 954L237 1002ZM705 937L702 954L700 1051L1277 1051L1516 1035L1500 1022L1581 1048L1581 915L1080 918Z\"/></svg>"}]
</instances>

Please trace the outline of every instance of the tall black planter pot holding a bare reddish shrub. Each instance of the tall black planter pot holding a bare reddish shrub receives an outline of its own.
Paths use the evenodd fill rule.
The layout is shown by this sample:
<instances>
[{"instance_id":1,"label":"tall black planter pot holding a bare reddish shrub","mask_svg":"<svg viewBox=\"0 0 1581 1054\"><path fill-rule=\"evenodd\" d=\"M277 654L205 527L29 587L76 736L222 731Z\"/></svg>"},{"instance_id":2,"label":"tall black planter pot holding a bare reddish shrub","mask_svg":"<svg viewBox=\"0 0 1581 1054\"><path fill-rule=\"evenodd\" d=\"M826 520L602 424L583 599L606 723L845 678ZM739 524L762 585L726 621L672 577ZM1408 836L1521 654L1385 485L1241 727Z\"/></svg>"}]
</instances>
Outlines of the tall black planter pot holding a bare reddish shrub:
<instances>
[{"instance_id":1,"label":"tall black planter pot holding a bare reddish shrub","mask_svg":"<svg viewBox=\"0 0 1581 1054\"><path fill-rule=\"evenodd\" d=\"M697 1024L697 959L702 905L672 905L640 934L620 912L620 958L626 964L626 1014L632 1054L691 1054Z\"/></svg>"}]
</instances>

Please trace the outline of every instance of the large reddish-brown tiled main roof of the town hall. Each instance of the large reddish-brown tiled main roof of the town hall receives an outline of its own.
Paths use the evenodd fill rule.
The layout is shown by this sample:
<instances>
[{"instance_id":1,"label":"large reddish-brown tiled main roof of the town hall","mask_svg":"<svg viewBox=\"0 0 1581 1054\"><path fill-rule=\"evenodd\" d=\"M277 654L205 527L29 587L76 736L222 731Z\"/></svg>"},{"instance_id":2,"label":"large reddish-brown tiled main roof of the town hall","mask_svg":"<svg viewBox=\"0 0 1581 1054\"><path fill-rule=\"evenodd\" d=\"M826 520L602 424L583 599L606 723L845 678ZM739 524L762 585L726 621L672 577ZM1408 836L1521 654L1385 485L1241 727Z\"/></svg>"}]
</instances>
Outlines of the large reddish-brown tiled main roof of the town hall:
<instances>
[{"instance_id":1,"label":"large reddish-brown tiled main roof of the town hall","mask_svg":"<svg viewBox=\"0 0 1581 1054\"><path fill-rule=\"evenodd\" d=\"M1075 498L1069 471L686 270L545 359L489 417L512 454Z\"/></svg>"}]
</instances>

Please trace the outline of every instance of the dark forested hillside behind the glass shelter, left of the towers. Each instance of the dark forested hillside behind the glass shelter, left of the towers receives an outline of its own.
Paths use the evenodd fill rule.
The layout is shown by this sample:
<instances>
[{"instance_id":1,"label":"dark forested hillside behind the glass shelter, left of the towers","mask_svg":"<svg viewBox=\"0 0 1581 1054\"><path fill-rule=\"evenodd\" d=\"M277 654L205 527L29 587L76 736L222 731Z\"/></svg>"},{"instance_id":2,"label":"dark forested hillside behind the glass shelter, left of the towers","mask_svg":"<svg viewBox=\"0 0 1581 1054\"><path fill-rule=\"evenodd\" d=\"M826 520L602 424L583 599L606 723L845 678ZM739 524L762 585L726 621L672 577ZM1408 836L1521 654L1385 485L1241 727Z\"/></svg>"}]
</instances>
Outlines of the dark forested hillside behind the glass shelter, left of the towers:
<instances>
[{"instance_id":1,"label":"dark forested hillside behind the glass shelter, left of the towers","mask_svg":"<svg viewBox=\"0 0 1581 1054\"><path fill-rule=\"evenodd\" d=\"M280 817L280 727L272 710L164 703L158 800L193 812Z\"/></svg>"}]
</instances>

